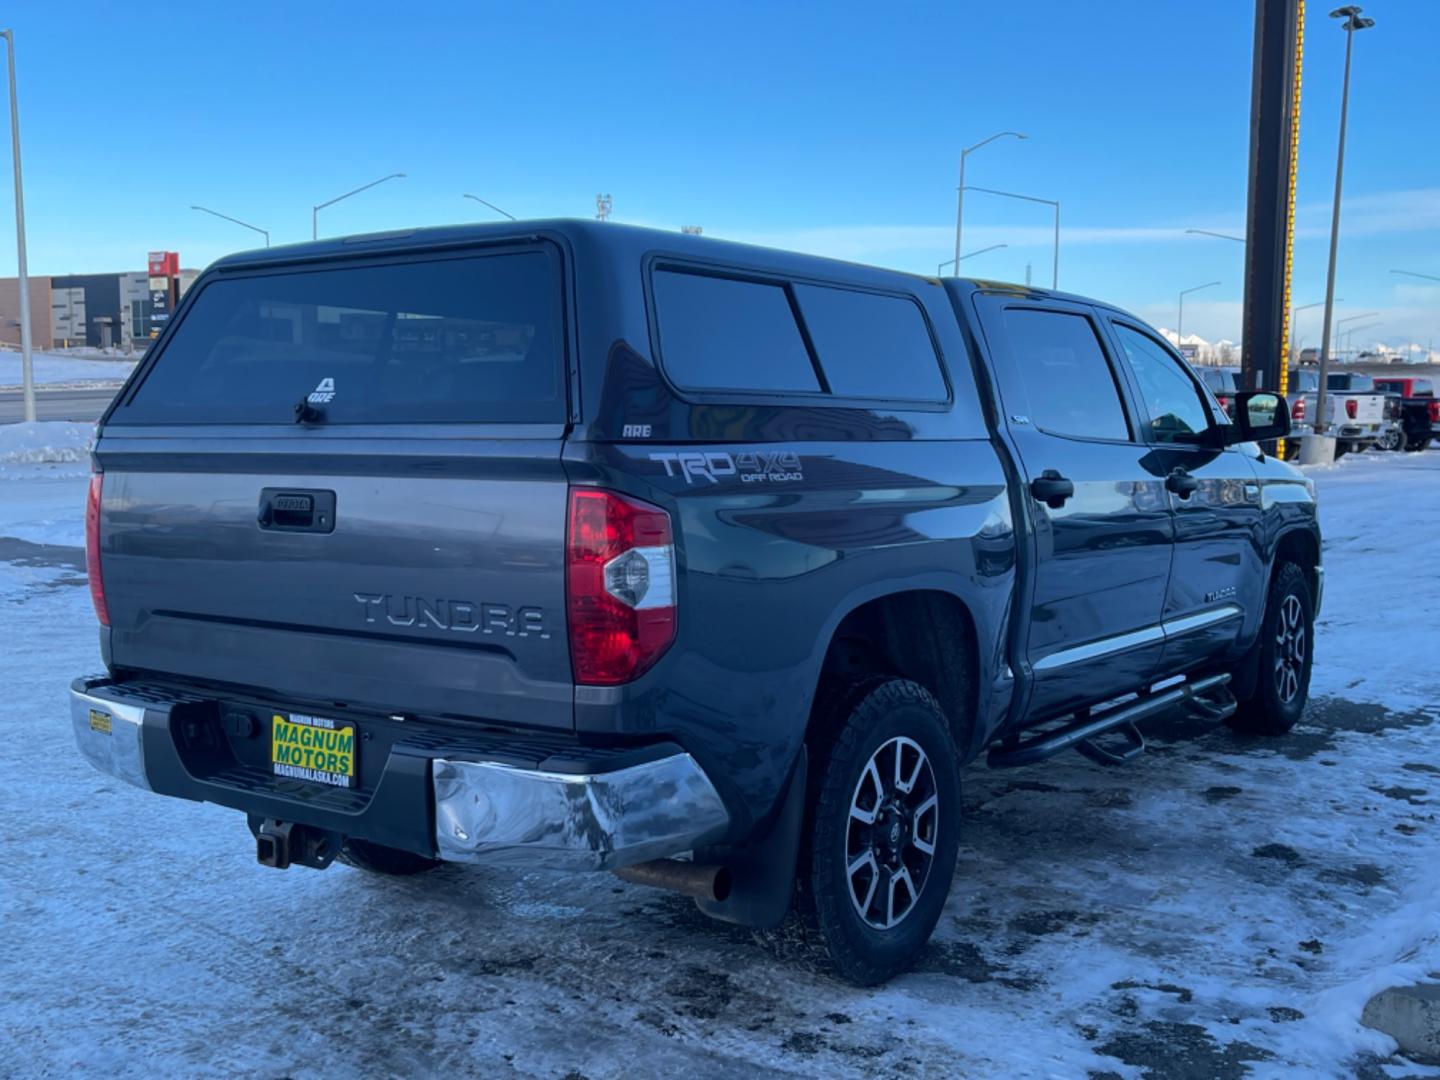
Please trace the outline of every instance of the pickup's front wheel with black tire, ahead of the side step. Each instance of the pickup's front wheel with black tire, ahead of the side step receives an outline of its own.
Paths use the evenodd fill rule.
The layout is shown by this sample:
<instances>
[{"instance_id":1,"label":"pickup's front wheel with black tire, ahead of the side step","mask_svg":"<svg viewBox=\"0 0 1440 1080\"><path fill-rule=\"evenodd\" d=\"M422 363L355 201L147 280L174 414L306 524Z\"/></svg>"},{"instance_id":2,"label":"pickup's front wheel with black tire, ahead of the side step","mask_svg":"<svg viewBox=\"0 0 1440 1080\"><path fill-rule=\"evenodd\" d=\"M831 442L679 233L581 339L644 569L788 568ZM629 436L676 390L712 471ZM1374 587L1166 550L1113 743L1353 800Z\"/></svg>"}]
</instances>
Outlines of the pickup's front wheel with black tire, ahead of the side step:
<instances>
[{"instance_id":1,"label":"pickup's front wheel with black tire, ahead of the side step","mask_svg":"<svg viewBox=\"0 0 1440 1080\"><path fill-rule=\"evenodd\" d=\"M1276 569L1254 649L1254 691L1230 726L1250 734L1284 734L1305 711L1315 660L1315 599L1305 570L1295 563Z\"/></svg>"}]
</instances>

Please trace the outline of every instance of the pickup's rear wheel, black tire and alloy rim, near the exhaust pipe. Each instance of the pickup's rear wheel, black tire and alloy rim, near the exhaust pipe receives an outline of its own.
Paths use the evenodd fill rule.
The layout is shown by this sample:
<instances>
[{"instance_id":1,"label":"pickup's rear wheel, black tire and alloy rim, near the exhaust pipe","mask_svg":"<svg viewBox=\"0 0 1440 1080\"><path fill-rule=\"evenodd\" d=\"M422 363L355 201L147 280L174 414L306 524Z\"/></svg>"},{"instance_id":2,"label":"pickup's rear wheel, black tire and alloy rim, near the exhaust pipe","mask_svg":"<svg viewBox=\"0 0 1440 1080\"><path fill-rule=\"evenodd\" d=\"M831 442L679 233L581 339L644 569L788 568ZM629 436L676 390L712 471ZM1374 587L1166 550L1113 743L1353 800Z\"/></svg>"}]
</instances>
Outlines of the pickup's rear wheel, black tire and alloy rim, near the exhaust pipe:
<instances>
[{"instance_id":1,"label":"pickup's rear wheel, black tire and alloy rim, near the exhaust pipe","mask_svg":"<svg viewBox=\"0 0 1440 1080\"><path fill-rule=\"evenodd\" d=\"M940 706L907 680L850 684L816 721L796 914L834 973L873 986L914 963L945 909L959 851L959 757Z\"/></svg>"}]
</instances>

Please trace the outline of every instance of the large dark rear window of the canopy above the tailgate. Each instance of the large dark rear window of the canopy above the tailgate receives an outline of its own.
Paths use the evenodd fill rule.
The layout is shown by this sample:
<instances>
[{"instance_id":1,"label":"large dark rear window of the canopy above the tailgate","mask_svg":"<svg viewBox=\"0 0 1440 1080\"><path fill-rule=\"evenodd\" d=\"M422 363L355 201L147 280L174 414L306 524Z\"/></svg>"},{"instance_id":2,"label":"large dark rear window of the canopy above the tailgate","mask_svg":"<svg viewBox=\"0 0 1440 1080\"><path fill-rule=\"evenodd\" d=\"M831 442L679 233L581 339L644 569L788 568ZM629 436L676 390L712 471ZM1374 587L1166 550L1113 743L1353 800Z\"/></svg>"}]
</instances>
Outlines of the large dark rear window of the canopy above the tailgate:
<instances>
[{"instance_id":1,"label":"large dark rear window of the canopy above the tailgate","mask_svg":"<svg viewBox=\"0 0 1440 1080\"><path fill-rule=\"evenodd\" d=\"M202 287L112 423L563 422L557 268L544 251Z\"/></svg>"}]
</instances>

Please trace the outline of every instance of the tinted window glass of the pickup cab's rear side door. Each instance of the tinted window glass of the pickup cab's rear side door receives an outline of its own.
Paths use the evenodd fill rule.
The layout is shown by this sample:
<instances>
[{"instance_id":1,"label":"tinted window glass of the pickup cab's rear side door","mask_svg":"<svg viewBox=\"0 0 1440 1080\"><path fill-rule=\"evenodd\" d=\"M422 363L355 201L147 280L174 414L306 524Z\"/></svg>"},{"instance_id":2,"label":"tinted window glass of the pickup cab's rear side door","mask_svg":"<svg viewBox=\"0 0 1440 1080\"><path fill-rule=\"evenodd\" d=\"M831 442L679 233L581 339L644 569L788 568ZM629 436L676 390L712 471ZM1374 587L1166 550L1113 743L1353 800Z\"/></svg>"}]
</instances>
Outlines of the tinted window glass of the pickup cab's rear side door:
<instances>
[{"instance_id":1,"label":"tinted window glass of the pickup cab's rear side door","mask_svg":"<svg viewBox=\"0 0 1440 1080\"><path fill-rule=\"evenodd\" d=\"M1086 315L1005 308L1005 337L1031 423L1051 435L1130 438L1119 384Z\"/></svg>"}]
</instances>

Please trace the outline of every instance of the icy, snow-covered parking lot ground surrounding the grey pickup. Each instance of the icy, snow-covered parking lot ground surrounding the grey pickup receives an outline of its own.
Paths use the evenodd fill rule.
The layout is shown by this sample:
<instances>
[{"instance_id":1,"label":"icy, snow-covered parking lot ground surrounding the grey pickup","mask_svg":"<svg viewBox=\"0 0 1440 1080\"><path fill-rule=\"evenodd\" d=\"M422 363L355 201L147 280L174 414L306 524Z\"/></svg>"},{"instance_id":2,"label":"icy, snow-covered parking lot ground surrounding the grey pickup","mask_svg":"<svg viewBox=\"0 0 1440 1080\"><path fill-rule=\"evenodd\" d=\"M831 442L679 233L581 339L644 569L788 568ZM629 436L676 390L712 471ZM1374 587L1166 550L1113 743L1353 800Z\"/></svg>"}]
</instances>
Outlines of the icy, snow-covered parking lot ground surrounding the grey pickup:
<instances>
[{"instance_id":1,"label":"icy, snow-covered parking lot ground surrounding the grey pickup","mask_svg":"<svg viewBox=\"0 0 1440 1080\"><path fill-rule=\"evenodd\" d=\"M1312 472L1296 732L972 768L930 952L874 991L608 876L262 870L239 815L95 772L84 472L0 444L0 1076L1440 1076L1359 1027L1440 975L1440 451Z\"/></svg>"}]
</instances>

